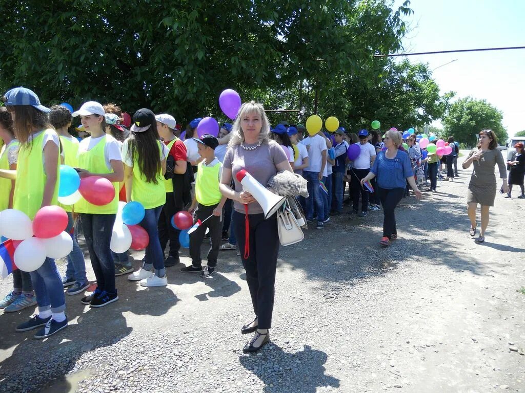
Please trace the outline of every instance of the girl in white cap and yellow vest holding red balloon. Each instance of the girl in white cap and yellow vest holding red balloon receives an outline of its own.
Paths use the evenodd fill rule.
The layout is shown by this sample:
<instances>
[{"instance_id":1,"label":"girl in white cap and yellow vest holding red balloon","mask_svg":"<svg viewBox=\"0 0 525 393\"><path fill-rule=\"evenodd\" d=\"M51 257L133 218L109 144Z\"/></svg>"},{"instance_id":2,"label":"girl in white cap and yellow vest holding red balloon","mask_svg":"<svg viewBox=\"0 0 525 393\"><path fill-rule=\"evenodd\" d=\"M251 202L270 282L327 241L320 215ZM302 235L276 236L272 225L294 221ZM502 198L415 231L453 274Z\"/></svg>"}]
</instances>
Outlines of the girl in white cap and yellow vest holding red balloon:
<instances>
[{"instance_id":1,"label":"girl in white cap and yellow vest holding red balloon","mask_svg":"<svg viewBox=\"0 0 525 393\"><path fill-rule=\"evenodd\" d=\"M92 294L82 298L81 302L95 308L119 299L115 288L115 265L109 245L117 216L118 189L119 182L124 179L124 167L119 143L105 132L104 114L102 105L95 101L82 104L73 113L74 117L81 117L82 125L90 134L80 142L78 149L79 176L85 184L94 184L89 182L89 177L101 180L98 189L85 189L83 192L81 183L83 198L75 204L75 211L80 213L91 266L97 278L97 288ZM98 201L97 196L103 196L104 201Z\"/></svg>"}]
</instances>

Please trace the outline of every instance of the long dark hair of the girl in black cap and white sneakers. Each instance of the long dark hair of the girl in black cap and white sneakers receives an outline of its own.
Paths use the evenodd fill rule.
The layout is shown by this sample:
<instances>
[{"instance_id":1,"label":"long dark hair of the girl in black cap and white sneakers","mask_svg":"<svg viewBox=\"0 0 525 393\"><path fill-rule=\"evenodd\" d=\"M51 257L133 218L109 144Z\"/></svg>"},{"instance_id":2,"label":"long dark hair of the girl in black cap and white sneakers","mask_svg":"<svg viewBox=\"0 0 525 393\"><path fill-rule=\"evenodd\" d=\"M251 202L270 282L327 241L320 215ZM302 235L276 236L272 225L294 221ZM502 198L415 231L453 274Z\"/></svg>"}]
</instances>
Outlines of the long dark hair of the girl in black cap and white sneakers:
<instances>
[{"instance_id":1,"label":"long dark hair of the girl in black cap and white sneakers","mask_svg":"<svg viewBox=\"0 0 525 393\"><path fill-rule=\"evenodd\" d=\"M159 150L159 131L155 119L148 130L142 133L131 132L129 140L129 158L133 160L137 154L140 171L148 183L158 184L161 171L161 157Z\"/></svg>"}]
</instances>

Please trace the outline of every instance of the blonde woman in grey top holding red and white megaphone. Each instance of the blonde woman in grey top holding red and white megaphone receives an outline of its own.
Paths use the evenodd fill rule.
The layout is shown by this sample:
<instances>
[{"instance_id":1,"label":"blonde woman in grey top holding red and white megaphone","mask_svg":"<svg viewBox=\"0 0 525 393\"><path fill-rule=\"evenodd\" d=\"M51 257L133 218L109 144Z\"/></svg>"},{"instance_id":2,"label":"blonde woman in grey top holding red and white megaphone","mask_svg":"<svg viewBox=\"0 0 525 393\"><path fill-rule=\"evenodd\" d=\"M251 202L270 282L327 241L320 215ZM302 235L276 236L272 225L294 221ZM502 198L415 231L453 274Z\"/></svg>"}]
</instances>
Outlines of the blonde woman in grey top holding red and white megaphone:
<instances>
[{"instance_id":1,"label":"blonde woman in grey top holding red and white megaphone","mask_svg":"<svg viewBox=\"0 0 525 393\"><path fill-rule=\"evenodd\" d=\"M285 152L270 140L269 133L264 107L254 101L243 104L233 125L220 179L220 192L234 201L235 235L255 312L255 319L241 329L243 334L255 332L243 349L245 353L256 352L269 341L274 309L279 253L276 211L283 198L265 187L277 172L292 172ZM232 177L237 191L230 187Z\"/></svg>"}]
</instances>

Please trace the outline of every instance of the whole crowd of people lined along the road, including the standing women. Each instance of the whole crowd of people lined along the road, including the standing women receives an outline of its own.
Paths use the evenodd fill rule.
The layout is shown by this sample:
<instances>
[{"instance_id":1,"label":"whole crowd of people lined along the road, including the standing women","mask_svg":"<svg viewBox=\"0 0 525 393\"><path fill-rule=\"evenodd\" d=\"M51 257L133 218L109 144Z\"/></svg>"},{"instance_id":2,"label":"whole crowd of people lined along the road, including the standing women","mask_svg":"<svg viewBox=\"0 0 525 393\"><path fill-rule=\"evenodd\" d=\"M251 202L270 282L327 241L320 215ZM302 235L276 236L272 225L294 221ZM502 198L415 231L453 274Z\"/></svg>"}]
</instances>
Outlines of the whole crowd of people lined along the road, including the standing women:
<instances>
[{"instance_id":1,"label":"whole crowd of people lined along the road, including the standing women","mask_svg":"<svg viewBox=\"0 0 525 393\"><path fill-rule=\"evenodd\" d=\"M173 225L172 217L187 210L202 224L189 234L192 264L180 271L210 277L220 251L238 250L255 314L241 328L243 334L255 333L244 351L258 351L269 340L279 237L276 214L265 218L259 202L243 190L237 178L240 170L247 170L264 185L282 171L304 178L309 196L298 197L298 202L307 223L318 230L331 216L343 213L344 203L352 206L350 215L362 219L369 211L382 210L379 243L384 247L397 238L395 208L410 189L421 199L418 184L428 180L430 191L436 192L437 179L442 178L440 165L446 165L445 180L458 176L459 146L453 137L448 138L448 145L454 146L452 152L442 157L434 149L421 148L415 133L406 135L395 128L380 135L366 129L351 133L344 127L330 134L309 133L303 125L287 122L271 127L264 107L255 102L243 104L234 123L223 123L218 135L200 137L197 127L201 118L182 129L172 115L155 115L148 108L131 117L117 104L90 101L71 113L62 105L41 105L38 96L25 88L8 91L4 105L0 107L0 211L17 209L33 220L41 207L58 204L67 212L66 232L74 244L64 277L52 258L32 272L14 270L13 290L0 302L4 312L36 304L38 313L16 328L19 332L38 329L36 338L66 328L65 293L74 296L90 286L78 232L85 238L96 277L96 289L80 301L96 309L119 299L116 276L128 275L130 281L144 287L167 285L166 268L180 263L181 231ZM78 118L81 124L72 125ZM436 144L436 140L430 143ZM496 163L506 179L505 163L493 146L495 140L490 130L482 131L480 145L463 163L464 168L474 163L468 214L470 234L475 236L476 206L481 204L479 242L484 241L488 208L495 196ZM353 159L348 155L351 145L359 147ZM520 184L523 194L523 146L517 150L507 164L512 168L512 183ZM98 176L109 180L116 191L113 200L104 205L84 198L72 204L59 203L61 164L74 167L81 179ZM349 198L344 201L347 188ZM510 195L506 181L502 189ZM142 265L135 271L128 252L110 249L119 201L140 202L145 210L140 226L148 233L149 243ZM205 239L211 246L203 267L201 246Z\"/></svg>"}]
</instances>

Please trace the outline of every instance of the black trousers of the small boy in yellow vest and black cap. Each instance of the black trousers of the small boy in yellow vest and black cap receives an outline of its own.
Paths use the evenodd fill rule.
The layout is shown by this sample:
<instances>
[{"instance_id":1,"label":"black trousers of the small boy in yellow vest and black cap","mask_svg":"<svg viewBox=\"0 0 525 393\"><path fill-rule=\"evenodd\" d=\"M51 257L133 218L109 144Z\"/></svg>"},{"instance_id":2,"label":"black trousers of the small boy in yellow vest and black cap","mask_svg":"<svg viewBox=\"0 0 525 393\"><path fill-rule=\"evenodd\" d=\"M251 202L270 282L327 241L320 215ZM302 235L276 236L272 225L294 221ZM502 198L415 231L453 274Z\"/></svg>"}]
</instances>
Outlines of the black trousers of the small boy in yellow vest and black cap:
<instances>
[{"instance_id":1,"label":"black trousers of the small boy in yellow vest and black cap","mask_svg":"<svg viewBox=\"0 0 525 393\"><path fill-rule=\"evenodd\" d=\"M220 239L222 238L223 223L220 221L220 216L209 217L213 214L213 209L217 207L218 203L211 206L204 206L199 204L195 212L195 219L204 221L195 232L190 235L190 257L192 258L192 265L196 267L202 266L201 259L201 245L204 241L204 234L206 228L209 228L209 237L212 239L212 246L208 251L208 267L217 266L217 257L219 255ZM209 217L209 219L208 219Z\"/></svg>"}]
</instances>

